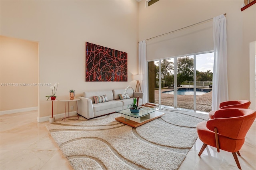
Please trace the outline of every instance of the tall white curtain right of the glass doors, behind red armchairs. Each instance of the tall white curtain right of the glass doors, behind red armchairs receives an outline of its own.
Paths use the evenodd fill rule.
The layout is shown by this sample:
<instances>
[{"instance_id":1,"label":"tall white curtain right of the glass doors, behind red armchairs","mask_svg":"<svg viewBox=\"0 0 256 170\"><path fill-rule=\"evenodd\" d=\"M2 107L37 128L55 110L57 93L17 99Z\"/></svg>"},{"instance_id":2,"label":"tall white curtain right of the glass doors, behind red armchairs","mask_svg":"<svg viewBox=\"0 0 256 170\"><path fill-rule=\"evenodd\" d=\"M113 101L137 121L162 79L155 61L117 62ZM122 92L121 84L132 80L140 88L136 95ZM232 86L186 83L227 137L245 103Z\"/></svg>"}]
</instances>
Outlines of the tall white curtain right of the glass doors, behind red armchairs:
<instances>
[{"instance_id":1,"label":"tall white curtain right of the glass doors, behind red armchairs","mask_svg":"<svg viewBox=\"0 0 256 170\"><path fill-rule=\"evenodd\" d=\"M212 110L228 101L226 17L213 18L214 66L212 80Z\"/></svg>"}]
</instances>

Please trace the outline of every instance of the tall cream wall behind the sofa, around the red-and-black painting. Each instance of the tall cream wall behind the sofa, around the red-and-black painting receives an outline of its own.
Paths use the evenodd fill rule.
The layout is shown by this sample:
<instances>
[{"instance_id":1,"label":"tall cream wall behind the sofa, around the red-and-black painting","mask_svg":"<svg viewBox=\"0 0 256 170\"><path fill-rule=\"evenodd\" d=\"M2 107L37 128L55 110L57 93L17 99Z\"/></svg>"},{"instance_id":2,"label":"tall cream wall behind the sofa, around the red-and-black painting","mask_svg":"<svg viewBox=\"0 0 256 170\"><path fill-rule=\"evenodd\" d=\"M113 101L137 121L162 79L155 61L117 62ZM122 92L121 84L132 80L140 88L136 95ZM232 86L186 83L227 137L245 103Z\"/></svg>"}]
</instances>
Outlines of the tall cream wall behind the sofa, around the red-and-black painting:
<instances>
[{"instance_id":1,"label":"tall cream wall behind the sofa, around the red-and-black painting","mask_svg":"<svg viewBox=\"0 0 256 170\"><path fill-rule=\"evenodd\" d=\"M83 91L135 87L138 73L138 2L1 1L1 35L39 42L39 82L60 83L57 99ZM128 82L85 82L85 42L128 53ZM49 87L39 89L39 115L51 115ZM54 104L64 113L64 103Z\"/></svg>"}]
</instances>

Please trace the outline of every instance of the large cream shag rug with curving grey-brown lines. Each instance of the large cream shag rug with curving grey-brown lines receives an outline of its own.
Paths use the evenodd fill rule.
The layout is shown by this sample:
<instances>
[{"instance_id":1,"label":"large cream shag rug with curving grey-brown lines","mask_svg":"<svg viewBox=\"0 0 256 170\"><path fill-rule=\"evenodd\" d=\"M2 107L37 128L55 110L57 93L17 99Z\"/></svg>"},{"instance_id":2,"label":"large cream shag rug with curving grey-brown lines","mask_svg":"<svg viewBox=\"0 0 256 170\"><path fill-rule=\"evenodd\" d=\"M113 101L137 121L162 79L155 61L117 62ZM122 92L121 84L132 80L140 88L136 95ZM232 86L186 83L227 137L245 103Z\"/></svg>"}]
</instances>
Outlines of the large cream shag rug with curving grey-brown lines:
<instances>
[{"instance_id":1,"label":"large cream shag rug with curving grey-brown lines","mask_svg":"<svg viewBox=\"0 0 256 170\"><path fill-rule=\"evenodd\" d=\"M171 108L137 128L115 120L120 114L48 124L52 138L74 170L177 170L198 138L207 114Z\"/></svg>"}]
</instances>

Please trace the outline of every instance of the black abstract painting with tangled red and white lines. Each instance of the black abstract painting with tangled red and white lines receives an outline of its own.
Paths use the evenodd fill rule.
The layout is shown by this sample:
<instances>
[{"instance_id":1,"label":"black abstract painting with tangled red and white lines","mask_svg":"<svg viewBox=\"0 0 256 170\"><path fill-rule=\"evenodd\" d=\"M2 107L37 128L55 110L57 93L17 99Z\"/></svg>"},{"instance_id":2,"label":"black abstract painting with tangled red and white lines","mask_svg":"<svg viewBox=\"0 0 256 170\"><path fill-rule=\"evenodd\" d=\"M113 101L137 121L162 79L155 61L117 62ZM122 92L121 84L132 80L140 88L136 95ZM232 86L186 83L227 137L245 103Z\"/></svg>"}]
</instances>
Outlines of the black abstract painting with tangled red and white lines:
<instances>
[{"instance_id":1,"label":"black abstract painting with tangled red and white lines","mask_svg":"<svg viewBox=\"0 0 256 170\"><path fill-rule=\"evenodd\" d=\"M127 81L127 53L85 43L85 81Z\"/></svg>"}]
</instances>

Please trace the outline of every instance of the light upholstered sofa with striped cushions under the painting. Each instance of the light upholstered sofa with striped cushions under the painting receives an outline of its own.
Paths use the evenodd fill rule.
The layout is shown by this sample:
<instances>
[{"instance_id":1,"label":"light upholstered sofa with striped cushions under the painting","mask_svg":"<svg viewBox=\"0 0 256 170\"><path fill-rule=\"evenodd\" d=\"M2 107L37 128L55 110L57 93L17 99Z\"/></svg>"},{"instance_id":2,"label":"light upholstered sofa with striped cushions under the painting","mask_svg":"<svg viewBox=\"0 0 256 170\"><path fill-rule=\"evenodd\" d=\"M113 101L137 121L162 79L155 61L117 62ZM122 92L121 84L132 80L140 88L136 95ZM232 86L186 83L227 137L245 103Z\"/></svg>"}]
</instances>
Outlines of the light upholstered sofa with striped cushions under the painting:
<instances>
[{"instance_id":1,"label":"light upholstered sofa with striped cushions under the painting","mask_svg":"<svg viewBox=\"0 0 256 170\"><path fill-rule=\"evenodd\" d=\"M86 119L91 119L94 117L99 117L109 113L114 113L123 109L128 109L128 105L133 102L133 91L128 89L130 99L120 99L118 94L124 93L125 89L114 89L106 91L88 91L84 92L82 97L77 97L81 100L78 103L78 114L85 117ZM108 102L96 103L94 102L93 96L107 95ZM134 97L140 97L139 105L142 105L142 98L144 93L134 92Z\"/></svg>"}]
</instances>

